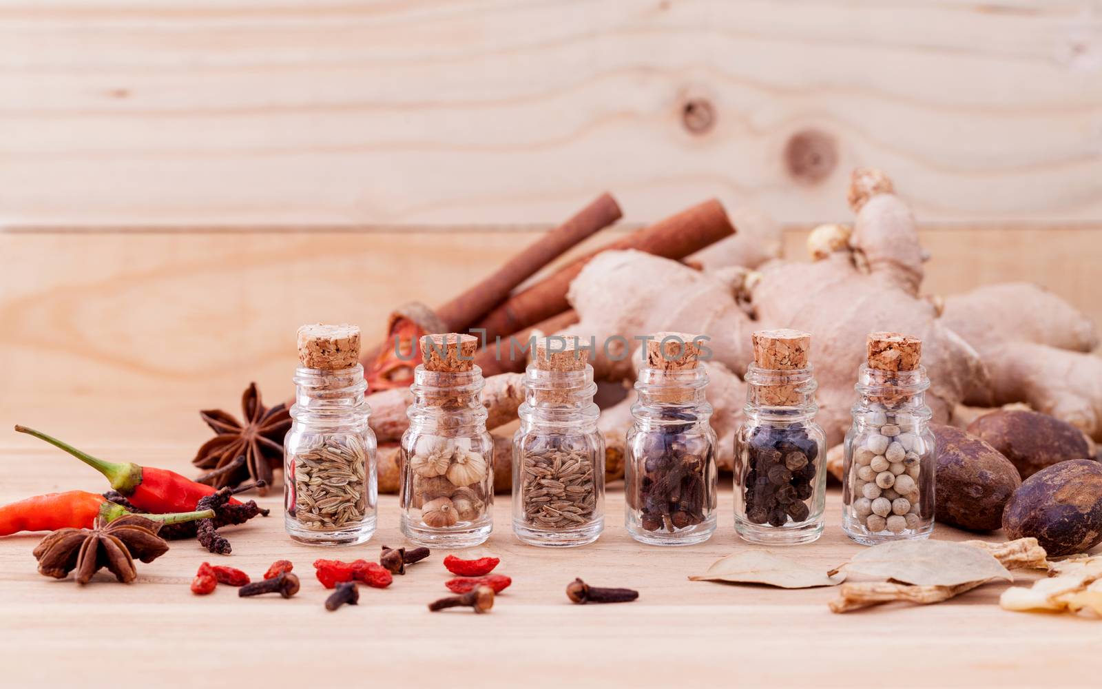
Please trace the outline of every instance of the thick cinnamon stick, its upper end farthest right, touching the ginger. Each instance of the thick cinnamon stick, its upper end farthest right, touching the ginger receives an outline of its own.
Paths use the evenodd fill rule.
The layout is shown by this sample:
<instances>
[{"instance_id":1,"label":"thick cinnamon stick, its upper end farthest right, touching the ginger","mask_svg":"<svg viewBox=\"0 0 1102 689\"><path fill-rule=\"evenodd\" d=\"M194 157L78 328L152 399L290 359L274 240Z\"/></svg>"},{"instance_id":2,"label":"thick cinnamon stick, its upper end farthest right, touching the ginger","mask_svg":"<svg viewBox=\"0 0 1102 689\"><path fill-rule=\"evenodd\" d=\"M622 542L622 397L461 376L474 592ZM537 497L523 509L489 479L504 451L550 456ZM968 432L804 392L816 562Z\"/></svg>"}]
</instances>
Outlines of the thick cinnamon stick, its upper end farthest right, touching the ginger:
<instances>
[{"instance_id":1,"label":"thick cinnamon stick, its upper end farthest right, touching the ginger","mask_svg":"<svg viewBox=\"0 0 1102 689\"><path fill-rule=\"evenodd\" d=\"M485 330L486 340L491 342L499 335L516 333L562 313L570 308L566 290L571 281L601 251L638 249L655 256L681 259L734 233L735 228L720 202L714 198L705 201L572 261L544 280L514 294L473 327Z\"/></svg>"}]
</instances>

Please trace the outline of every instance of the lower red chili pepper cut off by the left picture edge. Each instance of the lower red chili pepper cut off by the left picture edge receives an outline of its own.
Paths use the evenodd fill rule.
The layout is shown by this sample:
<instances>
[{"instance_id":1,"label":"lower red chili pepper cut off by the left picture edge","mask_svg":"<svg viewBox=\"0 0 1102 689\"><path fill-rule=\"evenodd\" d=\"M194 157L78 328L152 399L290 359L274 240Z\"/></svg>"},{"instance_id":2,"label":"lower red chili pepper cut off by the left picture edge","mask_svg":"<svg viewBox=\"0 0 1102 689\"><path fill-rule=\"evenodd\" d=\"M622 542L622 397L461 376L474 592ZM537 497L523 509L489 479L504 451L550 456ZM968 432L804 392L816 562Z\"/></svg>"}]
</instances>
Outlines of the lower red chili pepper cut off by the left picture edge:
<instances>
[{"instance_id":1,"label":"lower red chili pepper cut off by the left picture edge","mask_svg":"<svg viewBox=\"0 0 1102 689\"><path fill-rule=\"evenodd\" d=\"M114 521L130 514L102 495L85 491L47 493L0 507L0 536L17 531L55 531L57 529L90 529L96 517ZM176 513L170 515L141 515L147 519L179 524L193 519L214 517L214 510Z\"/></svg>"}]
</instances>

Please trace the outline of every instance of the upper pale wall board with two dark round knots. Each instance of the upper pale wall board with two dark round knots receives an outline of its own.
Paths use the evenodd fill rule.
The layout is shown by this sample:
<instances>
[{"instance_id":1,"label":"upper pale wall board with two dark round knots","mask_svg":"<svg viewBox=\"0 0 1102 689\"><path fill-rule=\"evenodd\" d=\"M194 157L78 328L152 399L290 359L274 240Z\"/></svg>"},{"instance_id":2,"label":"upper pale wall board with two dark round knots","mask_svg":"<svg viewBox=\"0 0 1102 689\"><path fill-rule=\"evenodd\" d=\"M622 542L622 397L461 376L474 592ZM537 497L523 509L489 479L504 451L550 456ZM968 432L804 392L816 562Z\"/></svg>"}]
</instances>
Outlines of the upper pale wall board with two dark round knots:
<instances>
[{"instance_id":1,"label":"upper pale wall board with two dark round knots","mask_svg":"<svg viewBox=\"0 0 1102 689\"><path fill-rule=\"evenodd\" d=\"M4 0L0 222L553 223L604 189L825 222L866 164L927 220L1096 222L1088 8ZM807 132L834 164L795 175Z\"/></svg>"}]
</instances>

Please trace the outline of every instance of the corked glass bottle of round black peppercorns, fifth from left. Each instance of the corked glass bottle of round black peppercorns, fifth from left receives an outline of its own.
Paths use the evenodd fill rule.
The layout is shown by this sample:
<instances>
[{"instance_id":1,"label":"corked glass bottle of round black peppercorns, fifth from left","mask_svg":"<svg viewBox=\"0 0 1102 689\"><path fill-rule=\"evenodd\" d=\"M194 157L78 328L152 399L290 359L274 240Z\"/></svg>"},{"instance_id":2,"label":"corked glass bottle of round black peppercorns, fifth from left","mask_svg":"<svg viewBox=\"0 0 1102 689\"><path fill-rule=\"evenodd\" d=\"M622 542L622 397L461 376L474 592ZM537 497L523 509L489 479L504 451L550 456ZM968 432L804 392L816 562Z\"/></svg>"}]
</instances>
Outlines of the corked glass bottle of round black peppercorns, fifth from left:
<instances>
[{"instance_id":1,"label":"corked glass bottle of round black peppercorns, fifth from left","mask_svg":"<svg viewBox=\"0 0 1102 689\"><path fill-rule=\"evenodd\" d=\"M811 335L766 330L752 342L746 421L735 435L735 530L752 543L811 542L823 531L827 495Z\"/></svg>"}]
</instances>

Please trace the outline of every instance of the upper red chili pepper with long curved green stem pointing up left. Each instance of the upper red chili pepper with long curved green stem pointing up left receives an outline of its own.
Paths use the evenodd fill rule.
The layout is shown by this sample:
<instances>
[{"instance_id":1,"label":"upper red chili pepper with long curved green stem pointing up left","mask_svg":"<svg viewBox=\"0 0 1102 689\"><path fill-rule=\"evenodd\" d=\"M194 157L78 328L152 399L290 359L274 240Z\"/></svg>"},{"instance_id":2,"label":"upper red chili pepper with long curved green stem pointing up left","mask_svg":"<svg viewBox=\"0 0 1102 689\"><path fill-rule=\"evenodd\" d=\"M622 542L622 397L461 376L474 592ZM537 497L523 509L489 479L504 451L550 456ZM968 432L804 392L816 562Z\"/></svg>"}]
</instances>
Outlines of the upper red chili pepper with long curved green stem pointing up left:
<instances>
[{"instance_id":1,"label":"upper red chili pepper with long curved green stem pointing up left","mask_svg":"<svg viewBox=\"0 0 1102 689\"><path fill-rule=\"evenodd\" d=\"M88 466L107 476L111 487L126 495L136 506L151 513L187 512L195 509L199 499L215 492L214 486L196 483L186 476L166 469L141 466L132 462L106 462L96 459L87 452L82 452L73 445L56 438L46 435L25 426L17 426L20 433L34 435L40 440L61 448ZM231 505L240 505L240 500L230 498Z\"/></svg>"}]
</instances>

